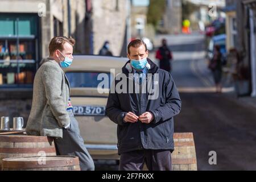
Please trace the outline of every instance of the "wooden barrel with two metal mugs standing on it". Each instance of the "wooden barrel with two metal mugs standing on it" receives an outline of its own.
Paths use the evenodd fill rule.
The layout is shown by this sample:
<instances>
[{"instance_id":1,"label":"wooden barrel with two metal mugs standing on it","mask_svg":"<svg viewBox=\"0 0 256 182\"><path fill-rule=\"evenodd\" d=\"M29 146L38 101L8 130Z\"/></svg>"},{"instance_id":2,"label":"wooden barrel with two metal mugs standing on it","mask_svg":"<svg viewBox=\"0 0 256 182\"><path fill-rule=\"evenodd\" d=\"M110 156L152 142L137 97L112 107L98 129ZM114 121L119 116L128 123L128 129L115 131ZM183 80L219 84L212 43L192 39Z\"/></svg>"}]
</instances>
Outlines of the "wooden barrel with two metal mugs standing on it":
<instances>
[{"instance_id":1,"label":"wooden barrel with two metal mugs standing on it","mask_svg":"<svg viewBox=\"0 0 256 182\"><path fill-rule=\"evenodd\" d=\"M28 135L0 135L0 169L2 159L27 156L55 156L53 138Z\"/></svg>"}]
</instances>

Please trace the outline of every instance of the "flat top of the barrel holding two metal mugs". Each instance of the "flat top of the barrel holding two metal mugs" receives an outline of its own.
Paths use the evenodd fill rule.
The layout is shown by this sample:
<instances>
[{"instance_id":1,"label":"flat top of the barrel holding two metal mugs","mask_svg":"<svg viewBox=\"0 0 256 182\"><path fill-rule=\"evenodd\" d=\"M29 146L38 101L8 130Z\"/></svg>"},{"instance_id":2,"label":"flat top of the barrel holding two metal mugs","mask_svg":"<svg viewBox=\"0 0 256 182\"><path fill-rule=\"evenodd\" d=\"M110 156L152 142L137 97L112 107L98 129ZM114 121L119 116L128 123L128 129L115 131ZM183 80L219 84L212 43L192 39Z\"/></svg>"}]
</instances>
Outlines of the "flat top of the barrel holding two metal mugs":
<instances>
[{"instance_id":1,"label":"flat top of the barrel holding two metal mugs","mask_svg":"<svg viewBox=\"0 0 256 182\"><path fill-rule=\"evenodd\" d=\"M50 142L51 137L28 135L0 135L0 142Z\"/></svg>"}]
</instances>

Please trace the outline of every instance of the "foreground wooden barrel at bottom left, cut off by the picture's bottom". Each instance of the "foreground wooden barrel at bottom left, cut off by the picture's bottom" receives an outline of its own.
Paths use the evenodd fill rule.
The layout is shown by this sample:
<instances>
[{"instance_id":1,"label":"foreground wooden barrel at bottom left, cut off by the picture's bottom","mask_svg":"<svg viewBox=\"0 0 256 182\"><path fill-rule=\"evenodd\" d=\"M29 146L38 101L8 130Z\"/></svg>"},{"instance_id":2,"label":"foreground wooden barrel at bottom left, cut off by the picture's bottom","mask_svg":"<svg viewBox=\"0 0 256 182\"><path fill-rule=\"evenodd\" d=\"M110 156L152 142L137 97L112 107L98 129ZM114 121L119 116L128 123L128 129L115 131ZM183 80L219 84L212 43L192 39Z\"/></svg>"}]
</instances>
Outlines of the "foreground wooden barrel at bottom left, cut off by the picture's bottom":
<instances>
[{"instance_id":1,"label":"foreground wooden barrel at bottom left, cut off by the picture's bottom","mask_svg":"<svg viewBox=\"0 0 256 182\"><path fill-rule=\"evenodd\" d=\"M9 158L2 161L3 171L80 171L76 156Z\"/></svg>"}]
</instances>

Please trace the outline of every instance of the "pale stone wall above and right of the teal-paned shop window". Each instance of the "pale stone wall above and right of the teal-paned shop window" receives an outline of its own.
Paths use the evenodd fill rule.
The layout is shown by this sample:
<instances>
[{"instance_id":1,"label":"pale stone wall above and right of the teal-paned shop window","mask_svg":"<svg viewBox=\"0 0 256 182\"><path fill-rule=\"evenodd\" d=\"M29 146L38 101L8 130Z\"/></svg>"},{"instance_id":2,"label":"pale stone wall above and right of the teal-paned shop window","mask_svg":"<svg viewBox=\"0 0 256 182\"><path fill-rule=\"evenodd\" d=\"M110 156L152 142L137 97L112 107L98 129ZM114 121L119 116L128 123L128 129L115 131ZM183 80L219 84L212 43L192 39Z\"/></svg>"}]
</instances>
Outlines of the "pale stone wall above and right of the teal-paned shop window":
<instances>
[{"instance_id":1,"label":"pale stone wall above and right of the teal-paned shop window","mask_svg":"<svg viewBox=\"0 0 256 182\"><path fill-rule=\"evenodd\" d=\"M45 16L41 20L41 52L47 57L48 44L54 36L53 18L63 23L63 35L68 36L68 1L67 0L1 0L0 13L38 13L40 3L46 7ZM75 51L85 53L85 1L72 0L71 35L76 39Z\"/></svg>"}]
</instances>

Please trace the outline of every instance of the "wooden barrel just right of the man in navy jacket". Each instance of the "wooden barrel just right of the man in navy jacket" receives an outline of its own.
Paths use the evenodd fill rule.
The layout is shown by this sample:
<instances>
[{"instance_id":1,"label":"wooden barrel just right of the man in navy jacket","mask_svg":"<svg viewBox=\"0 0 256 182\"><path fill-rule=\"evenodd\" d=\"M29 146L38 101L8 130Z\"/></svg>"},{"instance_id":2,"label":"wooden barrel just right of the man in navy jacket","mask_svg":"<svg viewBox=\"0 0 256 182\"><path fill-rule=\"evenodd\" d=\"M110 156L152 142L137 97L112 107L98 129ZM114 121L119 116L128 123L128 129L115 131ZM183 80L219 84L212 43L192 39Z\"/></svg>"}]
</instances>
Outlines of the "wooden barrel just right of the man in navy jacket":
<instances>
[{"instance_id":1,"label":"wooden barrel just right of the man in navy jacket","mask_svg":"<svg viewBox=\"0 0 256 182\"><path fill-rule=\"evenodd\" d=\"M174 133L172 170L197 171L196 149L193 133Z\"/></svg>"}]
</instances>

